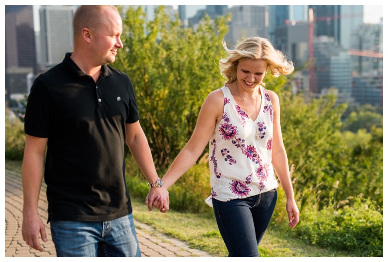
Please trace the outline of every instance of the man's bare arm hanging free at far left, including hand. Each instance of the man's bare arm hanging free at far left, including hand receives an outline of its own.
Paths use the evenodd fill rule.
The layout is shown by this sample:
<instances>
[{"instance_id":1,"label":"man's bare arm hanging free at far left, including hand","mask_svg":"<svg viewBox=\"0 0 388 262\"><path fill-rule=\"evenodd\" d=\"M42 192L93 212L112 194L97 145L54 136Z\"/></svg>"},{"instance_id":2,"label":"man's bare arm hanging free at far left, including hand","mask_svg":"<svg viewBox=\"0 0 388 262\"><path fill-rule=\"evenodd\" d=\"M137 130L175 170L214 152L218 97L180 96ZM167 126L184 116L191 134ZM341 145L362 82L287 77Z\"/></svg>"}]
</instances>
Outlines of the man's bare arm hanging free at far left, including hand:
<instances>
[{"instance_id":1,"label":"man's bare arm hanging free at far left, including hand","mask_svg":"<svg viewBox=\"0 0 388 262\"><path fill-rule=\"evenodd\" d=\"M23 185L23 240L27 245L43 251L39 243L39 234L43 242L47 235L42 219L38 215L39 193L43 180L43 160L47 147L47 138L26 135L23 164L21 169Z\"/></svg>"}]
</instances>

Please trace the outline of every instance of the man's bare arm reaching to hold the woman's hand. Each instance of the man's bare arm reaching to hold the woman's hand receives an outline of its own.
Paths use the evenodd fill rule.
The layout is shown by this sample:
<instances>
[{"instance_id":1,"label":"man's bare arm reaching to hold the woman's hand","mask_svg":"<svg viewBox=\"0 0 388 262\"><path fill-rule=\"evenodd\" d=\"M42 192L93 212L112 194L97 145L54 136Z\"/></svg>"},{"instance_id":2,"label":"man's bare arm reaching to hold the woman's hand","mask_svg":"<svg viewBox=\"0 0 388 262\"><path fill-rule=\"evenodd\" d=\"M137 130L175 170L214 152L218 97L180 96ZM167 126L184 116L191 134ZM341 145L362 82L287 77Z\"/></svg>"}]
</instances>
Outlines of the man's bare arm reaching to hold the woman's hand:
<instances>
[{"instance_id":1,"label":"man's bare arm reaching to hold the woman's hand","mask_svg":"<svg viewBox=\"0 0 388 262\"><path fill-rule=\"evenodd\" d=\"M146 135L144 134L139 121L135 123L127 123L125 127L127 137L126 142L129 147L130 153L132 154L140 170L142 170L144 176L148 180L148 183L156 183L159 177L155 170L154 161L152 159L152 154L148 145ZM158 206L158 208L161 209L161 212L165 213L168 211L168 205L170 203L170 200L168 197L168 191L163 186L151 188L148 198L150 200L148 202L149 211L152 211L152 203L155 199L158 198L162 200L161 205Z\"/></svg>"}]
</instances>

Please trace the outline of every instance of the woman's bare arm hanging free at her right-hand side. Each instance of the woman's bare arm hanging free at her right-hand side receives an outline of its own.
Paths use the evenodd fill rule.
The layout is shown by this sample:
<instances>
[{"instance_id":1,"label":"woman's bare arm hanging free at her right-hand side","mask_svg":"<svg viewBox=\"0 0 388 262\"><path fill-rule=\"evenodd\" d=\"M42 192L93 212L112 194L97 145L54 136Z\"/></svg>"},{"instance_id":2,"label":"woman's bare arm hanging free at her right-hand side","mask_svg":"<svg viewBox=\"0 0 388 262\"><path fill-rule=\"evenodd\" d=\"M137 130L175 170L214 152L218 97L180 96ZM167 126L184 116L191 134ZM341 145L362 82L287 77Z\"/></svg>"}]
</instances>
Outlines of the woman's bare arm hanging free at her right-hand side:
<instances>
[{"instance_id":1,"label":"woman's bare arm hanging free at her right-hand side","mask_svg":"<svg viewBox=\"0 0 388 262\"><path fill-rule=\"evenodd\" d=\"M290 169L286 149L283 144L282 131L280 127L280 105L279 97L273 91L268 90L272 107L274 109L274 133L272 142L272 165L274 166L277 177L282 185L287 197L287 213L289 218L289 227L294 228L299 222L299 209L296 206L294 191L292 188Z\"/></svg>"}]
</instances>

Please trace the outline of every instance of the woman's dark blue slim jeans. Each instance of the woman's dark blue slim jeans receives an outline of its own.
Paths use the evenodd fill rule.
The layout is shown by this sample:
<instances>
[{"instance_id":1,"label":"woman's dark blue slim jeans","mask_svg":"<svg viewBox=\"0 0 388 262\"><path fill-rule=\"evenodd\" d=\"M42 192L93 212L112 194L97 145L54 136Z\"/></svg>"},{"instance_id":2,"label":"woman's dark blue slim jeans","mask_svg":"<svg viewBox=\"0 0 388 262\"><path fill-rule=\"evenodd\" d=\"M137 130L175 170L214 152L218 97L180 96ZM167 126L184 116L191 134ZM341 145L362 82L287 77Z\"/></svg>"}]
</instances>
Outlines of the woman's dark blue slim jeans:
<instances>
[{"instance_id":1,"label":"woman's dark blue slim jeans","mask_svg":"<svg viewBox=\"0 0 388 262\"><path fill-rule=\"evenodd\" d=\"M274 213L276 199L276 189L226 202L212 199L229 257L259 257L258 246Z\"/></svg>"}]
</instances>

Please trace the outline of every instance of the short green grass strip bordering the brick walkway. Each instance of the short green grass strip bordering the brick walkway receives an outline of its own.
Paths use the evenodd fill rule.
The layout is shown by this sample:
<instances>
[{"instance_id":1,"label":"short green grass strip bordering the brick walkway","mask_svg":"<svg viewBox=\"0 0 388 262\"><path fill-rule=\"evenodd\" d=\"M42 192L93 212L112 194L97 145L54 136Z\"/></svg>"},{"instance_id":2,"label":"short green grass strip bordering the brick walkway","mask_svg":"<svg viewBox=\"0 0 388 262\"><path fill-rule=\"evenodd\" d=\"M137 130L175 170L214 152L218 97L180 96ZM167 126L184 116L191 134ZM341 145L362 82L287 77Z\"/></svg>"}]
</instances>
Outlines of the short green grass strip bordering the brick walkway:
<instances>
[{"instance_id":1,"label":"short green grass strip bordering the brick walkway","mask_svg":"<svg viewBox=\"0 0 388 262\"><path fill-rule=\"evenodd\" d=\"M21 161L5 160L5 169L21 171ZM146 196L145 196L146 197ZM159 210L148 211L144 200L131 198L133 216L158 231L181 239L192 248L210 252L216 257L226 257L227 250L218 231L213 216L181 213L169 210L160 213ZM174 201L171 199L170 201ZM303 217L300 223L303 223ZM286 226L285 226L286 227ZM289 229L275 228L271 223L259 246L262 257L351 257L351 253L324 249L307 244L297 239Z\"/></svg>"}]
</instances>

